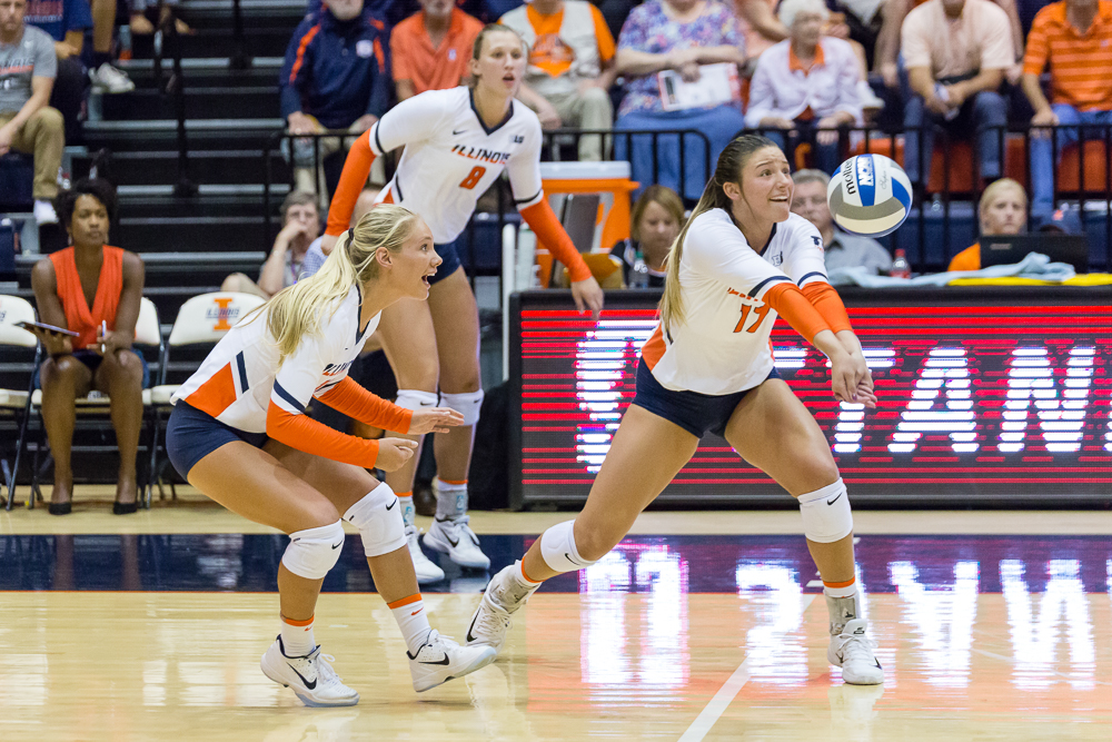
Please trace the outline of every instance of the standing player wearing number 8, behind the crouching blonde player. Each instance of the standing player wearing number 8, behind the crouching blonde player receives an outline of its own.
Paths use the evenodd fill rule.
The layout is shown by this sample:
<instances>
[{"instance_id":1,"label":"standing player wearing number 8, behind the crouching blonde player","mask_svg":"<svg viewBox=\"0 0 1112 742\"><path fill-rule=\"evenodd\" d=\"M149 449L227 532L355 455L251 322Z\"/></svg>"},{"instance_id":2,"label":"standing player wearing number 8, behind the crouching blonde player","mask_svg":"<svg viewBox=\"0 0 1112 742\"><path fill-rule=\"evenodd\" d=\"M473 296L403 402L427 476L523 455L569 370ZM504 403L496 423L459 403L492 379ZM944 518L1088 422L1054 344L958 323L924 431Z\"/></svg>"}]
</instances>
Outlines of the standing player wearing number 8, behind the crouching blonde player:
<instances>
[{"instance_id":1,"label":"standing player wearing number 8, behind the crouching blonde player","mask_svg":"<svg viewBox=\"0 0 1112 742\"><path fill-rule=\"evenodd\" d=\"M383 314L378 328L398 380L397 403L408 409L444 403L464 414L464 425L436 436L436 521L425 544L465 567L486 570L490 560L467 525L467 469L474 425L483 404L479 385L479 320L475 297L459 265L455 241L476 201L506 170L522 218L572 276L576 306L596 313L603 293L548 206L540 185L540 122L514 100L525 73L520 37L505 26L488 26L475 40L474 87L430 90L398 103L359 137L348 154L328 211L329 236L347 228L371 162L405 147L397 172L378 201L400 204L421 215L444 265L431 279L425 305L398 305ZM424 349L436 347L437 354ZM439 390L439 396L437 392ZM408 543L421 582L444 577L417 544L411 491L417 457L387 476L405 509Z\"/></svg>"}]
</instances>

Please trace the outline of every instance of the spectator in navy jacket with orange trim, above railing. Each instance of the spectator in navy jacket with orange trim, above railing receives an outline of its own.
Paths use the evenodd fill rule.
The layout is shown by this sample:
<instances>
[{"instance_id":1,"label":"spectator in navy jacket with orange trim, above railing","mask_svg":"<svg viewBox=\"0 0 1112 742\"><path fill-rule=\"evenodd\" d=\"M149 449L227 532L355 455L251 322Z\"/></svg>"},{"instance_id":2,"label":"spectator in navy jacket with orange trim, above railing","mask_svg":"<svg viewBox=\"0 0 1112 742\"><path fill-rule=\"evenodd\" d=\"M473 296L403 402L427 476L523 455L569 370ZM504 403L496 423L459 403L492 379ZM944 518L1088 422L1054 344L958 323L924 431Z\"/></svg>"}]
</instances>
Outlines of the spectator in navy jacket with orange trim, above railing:
<instances>
[{"instance_id":1,"label":"spectator in navy jacket with orange trim, above railing","mask_svg":"<svg viewBox=\"0 0 1112 742\"><path fill-rule=\"evenodd\" d=\"M330 0L294 31L279 75L281 115L292 135L342 129L359 135L389 107L386 24L364 0ZM297 189L327 196L311 140L295 146ZM324 159L344 149L339 137L320 142ZM304 146L302 146L304 145Z\"/></svg>"}]
</instances>

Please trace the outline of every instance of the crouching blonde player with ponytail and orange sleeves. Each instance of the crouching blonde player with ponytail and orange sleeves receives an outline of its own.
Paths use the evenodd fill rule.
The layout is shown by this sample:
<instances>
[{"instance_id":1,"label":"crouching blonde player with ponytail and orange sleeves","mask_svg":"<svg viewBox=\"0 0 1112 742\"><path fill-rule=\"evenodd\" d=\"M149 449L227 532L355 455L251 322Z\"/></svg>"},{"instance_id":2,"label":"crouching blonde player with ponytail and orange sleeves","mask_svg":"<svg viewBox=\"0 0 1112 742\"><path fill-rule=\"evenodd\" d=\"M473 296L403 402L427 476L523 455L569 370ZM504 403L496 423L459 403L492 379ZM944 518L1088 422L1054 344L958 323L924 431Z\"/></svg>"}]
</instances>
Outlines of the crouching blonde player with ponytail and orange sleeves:
<instances>
[{"instance_id":1,"label":"crouching blonde player with ponytail and orange sleeves","mask_svg":"<svg viewBox=\"0 0 1112 742\"><path fill-rule=\"evenodd\" d=\"M359 700L312 636L317 594L344 545L341 516L363 537L375 586L406 639L417 691L495 655L489 647L460 647L430 629L398 498L366 471L397 469L416 444L356 438L305 415L315 398L398 433L463 423L451 409L403 409L347 377L383 309L405 298L424 300L438 265L433 236L418 217L398 206L375 209L340 237L312 278L278 293L229 330L172 398L166 447L173 466L228 509L290 536L278 567L281 633L262 655L262 672L306 705Z\"/></svg>"}]
</instances>

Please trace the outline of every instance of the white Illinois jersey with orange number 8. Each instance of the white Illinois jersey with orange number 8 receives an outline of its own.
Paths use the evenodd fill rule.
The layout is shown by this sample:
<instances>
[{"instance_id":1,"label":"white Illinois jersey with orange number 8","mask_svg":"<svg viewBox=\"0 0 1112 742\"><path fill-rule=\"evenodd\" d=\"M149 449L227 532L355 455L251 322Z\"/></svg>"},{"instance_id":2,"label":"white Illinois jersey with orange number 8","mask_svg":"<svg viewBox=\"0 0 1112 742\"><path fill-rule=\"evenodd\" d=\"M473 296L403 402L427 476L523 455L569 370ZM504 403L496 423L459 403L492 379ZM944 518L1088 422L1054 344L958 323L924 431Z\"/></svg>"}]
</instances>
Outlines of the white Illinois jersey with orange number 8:
<instances>
[{"instance_id":1,"label":"white Illinois jersey with orange number 8","mask_svg":"<svg viewBox=\"0 0 1112 742\"><path fill-rule=\"evenodd\" d=\"M376 157L405 147L377 200L419 215L437 245L459 236L479 196L504 169L517 208L543 197L540 120L517 100L509 101L502 123L487 129L469 88L428 90L387 111L371 127L369 141Z\"/></svg>"}]
</instances>

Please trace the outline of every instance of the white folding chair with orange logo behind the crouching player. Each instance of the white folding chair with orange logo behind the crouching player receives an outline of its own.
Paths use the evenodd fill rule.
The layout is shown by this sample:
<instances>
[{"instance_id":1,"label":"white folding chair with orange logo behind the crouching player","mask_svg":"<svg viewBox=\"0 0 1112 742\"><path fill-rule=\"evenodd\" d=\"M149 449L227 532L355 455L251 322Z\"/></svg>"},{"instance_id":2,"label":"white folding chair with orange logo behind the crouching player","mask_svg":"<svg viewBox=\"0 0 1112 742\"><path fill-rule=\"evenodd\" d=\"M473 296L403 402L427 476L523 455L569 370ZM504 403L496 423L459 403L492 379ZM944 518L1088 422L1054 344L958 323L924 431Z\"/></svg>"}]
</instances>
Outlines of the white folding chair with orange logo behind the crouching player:
<instances>
[{"instance_id":1,"label":"white folding chair with orange logo behind the crouching player","mask_svg":"<svg viewBox=\"0 0 1112 742\"><path fill-rule=\"evenodd\" d=\"M193 358L191 362L177 362L175 364L175 374L185 380L200 366L205 359L203 354L208 353L210 346L216 345L236 323L264 303L265 299L254 294L215 291L192 297L178 310L178 318L173 320L170 338L162 350L158 385L151 389L150 395L155 435L150 446L151 486L147 489L147 507L150 507L151 488L156 484L158 485L159 498L165 499L166 497L162 491L161 472L168 459L158 462L159 435L162 428L162 413L172 409L170 397L181 386L180 384L167 384L170 350L181 352L188 346L192 346ZM200 353L201 350L203 354ZM177 499L178 493L172 479L170 481L170 493L171 497Z\"/></svg>"}]
</instances>

